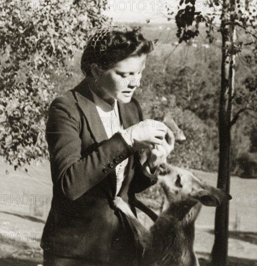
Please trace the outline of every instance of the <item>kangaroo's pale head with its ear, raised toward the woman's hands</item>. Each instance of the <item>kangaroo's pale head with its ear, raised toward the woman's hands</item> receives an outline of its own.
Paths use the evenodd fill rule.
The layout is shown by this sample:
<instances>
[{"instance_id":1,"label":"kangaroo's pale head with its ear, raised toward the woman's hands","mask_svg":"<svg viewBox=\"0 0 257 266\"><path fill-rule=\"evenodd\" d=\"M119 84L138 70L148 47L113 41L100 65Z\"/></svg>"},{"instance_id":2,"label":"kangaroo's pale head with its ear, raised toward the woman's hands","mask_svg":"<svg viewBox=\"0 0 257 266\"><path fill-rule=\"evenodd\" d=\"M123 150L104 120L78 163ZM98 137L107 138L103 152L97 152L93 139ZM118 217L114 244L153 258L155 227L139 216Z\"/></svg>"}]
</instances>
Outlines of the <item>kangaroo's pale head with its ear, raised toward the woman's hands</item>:
<instances>
[{"instance_id":1,"label":"kangaroo's pale head with its ear, raised toward the woman's hands","mask_svg":"<svg viewBox=\"0 0 257 266\"><path fill-rule=\"evenodd\" d=\"M203 183L191 172L179 167L162 164L158 173L169 204L187 202L194 206L201 202L205 206L218 206L232 197L220 189Z\"/></svg>"}]
</instances>

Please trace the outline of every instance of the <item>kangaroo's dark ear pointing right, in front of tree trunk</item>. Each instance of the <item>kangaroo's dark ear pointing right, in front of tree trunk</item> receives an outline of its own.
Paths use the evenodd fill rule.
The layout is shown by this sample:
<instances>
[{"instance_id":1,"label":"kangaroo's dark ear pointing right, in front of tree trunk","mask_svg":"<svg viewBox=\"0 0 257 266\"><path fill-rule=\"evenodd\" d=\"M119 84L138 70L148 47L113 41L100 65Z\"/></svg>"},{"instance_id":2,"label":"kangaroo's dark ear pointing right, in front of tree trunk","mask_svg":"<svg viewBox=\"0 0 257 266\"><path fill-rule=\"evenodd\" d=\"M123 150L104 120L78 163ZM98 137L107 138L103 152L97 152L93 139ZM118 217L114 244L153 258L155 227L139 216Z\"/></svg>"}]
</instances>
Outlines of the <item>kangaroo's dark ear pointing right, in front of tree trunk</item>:
<instances>
[{"instance_id":1,"label":"kangaroo's dark ear pointing right, in front of tree trunk","mask_svg":"<svg viewBox=\"0 0 257 266\"><path fill-rule=\"evenodd\" d=\"M232 199L232 197L226 192L211 186L194 192L192 197L200 201L203 205L210 207L216 207L221 203Z\"/></svg>"}]
</instances>

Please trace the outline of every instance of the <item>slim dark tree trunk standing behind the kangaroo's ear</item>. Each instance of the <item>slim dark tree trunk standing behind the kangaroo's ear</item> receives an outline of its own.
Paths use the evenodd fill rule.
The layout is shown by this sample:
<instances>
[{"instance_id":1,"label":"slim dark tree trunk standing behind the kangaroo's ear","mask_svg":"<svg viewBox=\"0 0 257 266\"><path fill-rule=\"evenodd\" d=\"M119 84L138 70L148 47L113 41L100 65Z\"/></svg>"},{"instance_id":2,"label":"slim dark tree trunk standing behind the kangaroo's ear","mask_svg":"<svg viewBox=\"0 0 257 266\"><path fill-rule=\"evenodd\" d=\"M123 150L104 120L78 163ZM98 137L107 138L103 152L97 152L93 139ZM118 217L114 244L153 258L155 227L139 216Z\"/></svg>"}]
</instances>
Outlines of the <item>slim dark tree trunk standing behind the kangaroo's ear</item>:
<instances>
[{"instance_id":1,"label":"slim dark tree trunk standing behind the kangaroo's ear","mask_svg":"<svg viewBox=\"0 0 257 266\"><path fill-rule=\"evenodd\" d=\"M229 193L230 187L230 128L232 99L234 96L235 55L233 44L236 30L232 19L230 24L225 18L226 9L230 13L235 10L235 0L226 4L223 1L223 17L221 23L222 34L222 66L221 66L221 94L219 108L219 170L217 187ZM226 44L230 41L229 44ZM227 266L228 253L228 224L229 202L216 208L215 213L215 241L212 248L212 266Z\"/></svg>"}]
</instances>

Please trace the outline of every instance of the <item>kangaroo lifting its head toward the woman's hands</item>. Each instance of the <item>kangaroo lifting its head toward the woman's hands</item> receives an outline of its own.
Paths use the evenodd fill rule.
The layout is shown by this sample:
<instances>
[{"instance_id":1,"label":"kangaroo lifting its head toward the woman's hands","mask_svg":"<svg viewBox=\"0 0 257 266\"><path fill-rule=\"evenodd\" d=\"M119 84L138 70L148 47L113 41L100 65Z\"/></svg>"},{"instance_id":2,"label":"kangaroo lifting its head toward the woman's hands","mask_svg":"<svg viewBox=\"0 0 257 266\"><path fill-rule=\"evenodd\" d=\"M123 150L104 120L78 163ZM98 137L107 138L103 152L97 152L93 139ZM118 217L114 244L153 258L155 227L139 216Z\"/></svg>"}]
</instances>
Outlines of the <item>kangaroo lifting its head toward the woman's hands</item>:
<instances>
[{"instance_id":1,"label":"kangaroo lifting its head toward the woman's hands","mask_svg":"<svg viewBox=\"0 0 257 266\"><path fill-rule=\"evenodd\" d=\"M158 183L168 202L159 217L136 201L136 207L156 220L149 231L142 224L135 223L140 231L138 241L144 248L143 260L139 265L199 266L194 251L194 223L201 206L216 207L230 200L231 196L203 183L191 172L170 164L161 165Z\"/></svg>"}]
</instances>

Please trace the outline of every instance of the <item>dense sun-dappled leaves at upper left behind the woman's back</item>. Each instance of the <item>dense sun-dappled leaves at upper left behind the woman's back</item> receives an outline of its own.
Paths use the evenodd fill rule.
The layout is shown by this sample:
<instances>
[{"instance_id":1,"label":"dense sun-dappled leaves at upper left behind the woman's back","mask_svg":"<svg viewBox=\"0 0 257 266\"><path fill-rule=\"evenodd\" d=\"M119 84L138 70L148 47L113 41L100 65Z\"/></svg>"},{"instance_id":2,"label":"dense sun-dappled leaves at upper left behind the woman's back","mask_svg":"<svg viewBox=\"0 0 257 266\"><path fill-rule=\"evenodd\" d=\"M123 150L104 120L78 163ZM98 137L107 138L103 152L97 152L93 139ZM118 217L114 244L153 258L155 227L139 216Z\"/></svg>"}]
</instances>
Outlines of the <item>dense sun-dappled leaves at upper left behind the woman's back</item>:
<instances>
[{"instance_id":1,"label":"dense sun-dappled leaves at upper left behind the woman's back","mask_svg":"<svg viewBox=\"0 0 257 266\"><path fill-rule=\"evenodd\" d=\"M83 50L93 27L107 22L106 5L97 0L28 3L0 6L1 150L18 166L47 156L45 120L59 89L50 74L73 75L67 60Z\"/></svg>"}]
</instances>

